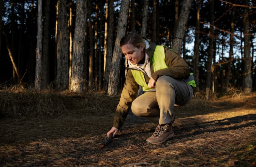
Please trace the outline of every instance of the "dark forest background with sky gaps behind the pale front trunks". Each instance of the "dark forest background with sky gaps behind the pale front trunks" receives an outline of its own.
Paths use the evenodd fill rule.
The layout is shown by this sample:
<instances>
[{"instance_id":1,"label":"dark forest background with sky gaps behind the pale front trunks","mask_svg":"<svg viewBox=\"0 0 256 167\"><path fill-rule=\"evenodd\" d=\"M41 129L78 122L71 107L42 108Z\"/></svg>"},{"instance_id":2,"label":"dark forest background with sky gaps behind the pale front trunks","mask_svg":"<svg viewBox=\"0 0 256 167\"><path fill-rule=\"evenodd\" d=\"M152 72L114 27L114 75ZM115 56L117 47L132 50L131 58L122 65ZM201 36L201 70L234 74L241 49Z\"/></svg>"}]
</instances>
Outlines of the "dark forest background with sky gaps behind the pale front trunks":
<instances>
[{"instance_id":1,"label":"dark forest background with sky gaps behind the pale front trunks","mask_svg":"<svg viewBox=\"0 0 256 167\"><path fill-rule=\"evenodd\" d=\"M33 86L36 78L37 39L39 39L37 19L39 1L1 1L1 29L3 34L0 38L0 84L1 86L11 86L22 83L23 87ZM86 1L81 3L84 2ZM72 50L72 44L76 36L76 22L86 22L84 25L86 26L83 37L84 44L81 44L84 49L84 52L81 52L83 53L83 64L82 67L79 66L81 67L79 70L83 73L83 88L80 90L105 90L107 92L108 79L106 79L104 69L105 66L111 68L111 62L113 63L112 54L115 52L113 49L118 34L120 5L123 1L87 0L81 8L85 10L86 18L84 20L86 21L77 19L77 3L78 1L74 0L42 1L43 47L41 55L44 79L41 82L44 84L41 87L50 86L58 90L72 90L70 78L71 68L73 68L71 67L72 55L75 52L75 47ZM112 8L111 3L113 3ZM174 31L182 12L182 4L185 4L185 1L148 0L145 37L158 45L173 48L174 39L177 38ZM61 6L64 6L62 7L64 17L58 16L61 15ZM144 6L144 1L132 0L130 2L129 11L126 15L125 34L134 31L141 33L142 20L145 16L143 13ZM189 10L188 21L183 27L185 35L182 38L179 37L182 40L180 55L188 62L191 72L195 75L197 91L222 93L230 87L236 87L250 93L256 89L255 8L255 0L214 0L214 3L213 0L191 1L191 7L187 9ZM111 11L113 12L113 23L109 19ZM211 11L213 11L212 14ZM60 80L57 79L59 61L57 48L61 46L58 46L59 31L56 30L59 27L58 24L64 25L60 28L67 31L65 38L67 46L64 49L67 65L61 67L62 71L69 69L69 86L66 87L59 87ZM108 24L111 32L106 31ZM211 28L213 33L211 33ZM109 43L107 42L107 34L110 33L113 35L110 37L112 47L107 48ZM198 51L195 50L196 42L198 43ZM245 47L248 46L248 42L249 48ZM107 54L107 49L113 51L110 52L111 55ZM197 64L196 56L198 57ZM118 80L117 87L119 88L123 86L125 80L124 56L121 59L120 77L115 78ZM15 72L13 64L16 65L17 72Z\"/></svg>"}]
</instances>

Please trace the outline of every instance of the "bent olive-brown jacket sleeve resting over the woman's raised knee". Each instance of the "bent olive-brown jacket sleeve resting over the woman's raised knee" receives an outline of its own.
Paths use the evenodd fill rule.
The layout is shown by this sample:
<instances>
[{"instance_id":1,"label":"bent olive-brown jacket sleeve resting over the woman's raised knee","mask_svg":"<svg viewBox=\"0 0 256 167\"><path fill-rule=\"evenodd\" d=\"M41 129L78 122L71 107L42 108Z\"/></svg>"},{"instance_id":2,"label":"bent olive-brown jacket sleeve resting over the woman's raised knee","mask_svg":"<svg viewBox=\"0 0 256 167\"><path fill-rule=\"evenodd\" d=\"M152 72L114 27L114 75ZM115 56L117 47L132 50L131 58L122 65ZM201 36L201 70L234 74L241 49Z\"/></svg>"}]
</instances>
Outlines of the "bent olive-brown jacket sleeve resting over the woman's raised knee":
<instances>
[{"instance_id":1,"label":"bent olive-brown jacket sleeve resting over the woman's raised knee","mask_svg":"<svg viewBox=\"0 0 256 167\"><path fill-rule=\"evenodd\" d=\"M176 52L168 48L164 48L165 63L168 68L164 68L154 72L151 76L154 80L157 80L163 75L170 76L175 79L185 79L190 75L190 68L187 62Z\"/></svg>"}]
</instances>

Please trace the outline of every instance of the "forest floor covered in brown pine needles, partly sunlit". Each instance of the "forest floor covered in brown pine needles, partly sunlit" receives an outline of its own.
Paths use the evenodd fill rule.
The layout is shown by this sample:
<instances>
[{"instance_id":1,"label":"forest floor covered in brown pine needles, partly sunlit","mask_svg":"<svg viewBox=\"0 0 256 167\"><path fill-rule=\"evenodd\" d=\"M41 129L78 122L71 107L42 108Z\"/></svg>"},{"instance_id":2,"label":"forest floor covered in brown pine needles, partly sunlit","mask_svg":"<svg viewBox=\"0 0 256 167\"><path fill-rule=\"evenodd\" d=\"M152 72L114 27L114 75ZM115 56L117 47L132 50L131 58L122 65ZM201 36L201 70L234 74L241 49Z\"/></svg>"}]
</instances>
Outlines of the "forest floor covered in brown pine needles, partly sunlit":
<instances>
[{"instance_id":1,"label":"forest floor covered in brown pine needles, partly sunlit","mask_svg":"<svg viewBox=\"0 0 256 167\"><path fill-rule=\"evenodd\" d=\"M256 166L256 92L175 107L174 138L161 145L145 142L156 124L130 112L104 148L119 97L100 97L99 106L113 110L92 105L90 112L0 119L0 166Z\"/></svg>"}]
</instances>

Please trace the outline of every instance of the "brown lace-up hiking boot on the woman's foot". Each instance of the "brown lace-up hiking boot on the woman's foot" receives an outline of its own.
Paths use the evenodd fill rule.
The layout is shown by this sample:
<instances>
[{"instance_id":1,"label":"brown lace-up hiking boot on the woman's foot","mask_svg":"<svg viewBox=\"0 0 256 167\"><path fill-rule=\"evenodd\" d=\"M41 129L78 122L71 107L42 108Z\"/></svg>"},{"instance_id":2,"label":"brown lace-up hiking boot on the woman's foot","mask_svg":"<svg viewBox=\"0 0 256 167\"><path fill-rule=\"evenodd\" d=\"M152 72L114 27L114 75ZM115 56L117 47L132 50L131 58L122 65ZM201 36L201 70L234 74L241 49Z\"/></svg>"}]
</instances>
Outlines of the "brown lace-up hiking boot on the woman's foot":
<instances>
[{"instance_id":1,"label":"brown lace-up hiking boot on the woman's foot","mask_svg":"<svg viewBox=\"0 0 256 167\"><path fill-rule=\"evenodd\" d=\"M157 125L156 131L146 141L151 144L162 144L167 139L170 139L173 136L174 136L174 133L172 132L171 125L168 125L168 124L164 126Z\"/></svg>"}]
</instances>

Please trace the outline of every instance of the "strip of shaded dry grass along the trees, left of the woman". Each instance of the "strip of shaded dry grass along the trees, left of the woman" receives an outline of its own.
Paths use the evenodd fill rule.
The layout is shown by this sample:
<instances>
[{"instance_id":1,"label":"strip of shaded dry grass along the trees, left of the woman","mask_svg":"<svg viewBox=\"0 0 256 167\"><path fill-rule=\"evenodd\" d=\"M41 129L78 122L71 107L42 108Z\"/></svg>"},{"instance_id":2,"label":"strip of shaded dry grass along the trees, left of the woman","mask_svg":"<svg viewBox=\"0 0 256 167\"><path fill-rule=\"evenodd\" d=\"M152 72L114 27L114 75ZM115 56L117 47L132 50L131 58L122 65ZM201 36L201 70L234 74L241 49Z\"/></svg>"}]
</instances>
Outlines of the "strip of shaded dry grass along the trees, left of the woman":
<instances>
[{"instance_id":1,"label":"strip of shaded dry grass along the trees, left of the woman","mask_svg":"<svg viewBox=\"0 0 256 167\"><path fill-rule=\"evenodd\" d=\"M0 90L0 113L5 117L49 117L110 112L115 110L118 97L96 93L56 92L45 89L17 87ZM111 105L112 104L112 105ZM86 112L84 112L86 109Z\"/></svg>"}]
</instances>

